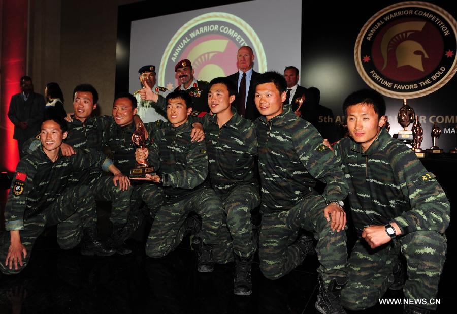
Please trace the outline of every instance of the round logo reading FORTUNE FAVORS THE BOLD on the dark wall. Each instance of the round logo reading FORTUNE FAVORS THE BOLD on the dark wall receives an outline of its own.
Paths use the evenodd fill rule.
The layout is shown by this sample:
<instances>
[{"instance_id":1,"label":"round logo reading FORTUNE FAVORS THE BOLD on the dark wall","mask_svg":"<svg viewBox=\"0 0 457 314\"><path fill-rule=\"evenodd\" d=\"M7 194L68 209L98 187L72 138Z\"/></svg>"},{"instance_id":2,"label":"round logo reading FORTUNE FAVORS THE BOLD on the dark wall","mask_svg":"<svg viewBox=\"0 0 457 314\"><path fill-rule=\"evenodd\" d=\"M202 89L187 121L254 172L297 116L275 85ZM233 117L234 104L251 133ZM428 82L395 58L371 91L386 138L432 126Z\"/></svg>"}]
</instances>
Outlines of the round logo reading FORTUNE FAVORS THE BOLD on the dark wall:
<instances>
[{"instance_id":1,"label":"round logo reading FORTUNE FAVORS THE BOLD on the dark wall","mask_svg":"<svg viewBox=\"0 0 457 314\"><path fill-rule=\"evenodd\" d=\"M373 89L394 98L428 95L455 74L455 19L426 2L402 2L376 13L358 34L355 66Z\"/></svg>"}]
</instances>

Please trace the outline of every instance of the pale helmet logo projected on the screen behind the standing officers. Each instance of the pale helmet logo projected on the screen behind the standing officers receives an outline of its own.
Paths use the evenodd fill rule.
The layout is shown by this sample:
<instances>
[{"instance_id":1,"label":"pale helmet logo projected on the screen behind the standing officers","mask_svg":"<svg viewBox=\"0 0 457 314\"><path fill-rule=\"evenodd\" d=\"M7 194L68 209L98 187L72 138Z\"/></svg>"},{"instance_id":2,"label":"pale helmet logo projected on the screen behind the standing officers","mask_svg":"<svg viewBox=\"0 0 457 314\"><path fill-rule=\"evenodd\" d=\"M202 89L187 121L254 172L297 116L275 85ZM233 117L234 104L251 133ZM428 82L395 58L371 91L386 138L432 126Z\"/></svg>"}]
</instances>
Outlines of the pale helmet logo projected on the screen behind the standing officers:
<instances>
[{"instance_id":1,"label":"pale helmet logo projected on the screen behind the standing officers","mask_svg":"<svg viewBox=\"0 0 457 314\"><path fill-rule=\"evenodd\" d=\"M170 90L179 85L174 68L182 59L190 60L198 80L210 81L235 73L236 55L241 46L254 51L254 70L267 71L264 47L248 23L223 12L197 16L179 28L170 40L160 61L158 84Z\"/></svg>"}]
</instances>

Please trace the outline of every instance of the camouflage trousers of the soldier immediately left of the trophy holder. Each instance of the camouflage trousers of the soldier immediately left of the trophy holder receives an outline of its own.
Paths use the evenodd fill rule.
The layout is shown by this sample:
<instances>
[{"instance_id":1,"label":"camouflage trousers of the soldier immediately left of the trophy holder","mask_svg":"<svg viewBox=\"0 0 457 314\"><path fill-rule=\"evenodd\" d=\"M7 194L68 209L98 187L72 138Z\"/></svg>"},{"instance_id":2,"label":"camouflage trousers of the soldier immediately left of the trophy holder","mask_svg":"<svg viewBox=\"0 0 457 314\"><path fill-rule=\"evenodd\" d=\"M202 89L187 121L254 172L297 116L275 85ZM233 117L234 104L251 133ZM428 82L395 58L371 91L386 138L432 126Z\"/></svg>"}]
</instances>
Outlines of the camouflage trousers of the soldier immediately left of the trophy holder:
<instances>
[{"instance_id":1,"label":"camouflage trousers of the soldier immediately left of the trophy holder","mask_svg":"<svg viewBox=\"0 0 457 314\"><path fill-rule=\"evenodd\" d=\"M130 212L127 223L121 232L123 240L132 236L148 215L154 219L155 214L164 202L164 193L161 186L149 182L136 182L133 184L129 189L132 190ZM147 206L147 211L142 209L143 202Z\"/></svg>"}]
</instances>

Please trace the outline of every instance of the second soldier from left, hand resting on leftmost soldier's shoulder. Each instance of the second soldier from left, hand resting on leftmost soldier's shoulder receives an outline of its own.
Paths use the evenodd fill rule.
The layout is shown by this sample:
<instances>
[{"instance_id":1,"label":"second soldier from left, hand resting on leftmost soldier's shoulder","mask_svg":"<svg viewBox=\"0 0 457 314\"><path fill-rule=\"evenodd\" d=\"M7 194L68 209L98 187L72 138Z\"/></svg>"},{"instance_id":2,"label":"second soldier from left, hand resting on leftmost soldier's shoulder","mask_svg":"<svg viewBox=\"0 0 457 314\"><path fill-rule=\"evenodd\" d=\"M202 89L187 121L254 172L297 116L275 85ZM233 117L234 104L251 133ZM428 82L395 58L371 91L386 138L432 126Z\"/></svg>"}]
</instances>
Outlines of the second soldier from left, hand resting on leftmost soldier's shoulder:
<instances>
[{"instance_id":1,"label":"second soldier from left, hand resting on leftmost soldier's shoulder","mask_svg":"<svg viewBox=\"0 0 457 314\"><path fill-rule=\"evenodd\" d=\"M111 116L92 117L92 111L97 106L98 92L90 84L80 84L73 91L73 110L71 122L67 122L68 135L60 146L64 156L71 156L75 153L74 148L84 150L100 150L103 145L103 131L113 124ZM34 141L29 148L36 149L40 141ZM70 180L70 185L88 185L92 191L95 201L112 202L110 222L112 232L109 239L110 244L119 254L128 254L131 250L119 238L119 234L127 222L130 212L130 195L132 190L128 189L130 182L128 177L123 175L119 169L107 159L103 167L109 170L114 176L102 176L102 167L94 166L84 171L75 171Z\"/></svg>"}]
</instances>

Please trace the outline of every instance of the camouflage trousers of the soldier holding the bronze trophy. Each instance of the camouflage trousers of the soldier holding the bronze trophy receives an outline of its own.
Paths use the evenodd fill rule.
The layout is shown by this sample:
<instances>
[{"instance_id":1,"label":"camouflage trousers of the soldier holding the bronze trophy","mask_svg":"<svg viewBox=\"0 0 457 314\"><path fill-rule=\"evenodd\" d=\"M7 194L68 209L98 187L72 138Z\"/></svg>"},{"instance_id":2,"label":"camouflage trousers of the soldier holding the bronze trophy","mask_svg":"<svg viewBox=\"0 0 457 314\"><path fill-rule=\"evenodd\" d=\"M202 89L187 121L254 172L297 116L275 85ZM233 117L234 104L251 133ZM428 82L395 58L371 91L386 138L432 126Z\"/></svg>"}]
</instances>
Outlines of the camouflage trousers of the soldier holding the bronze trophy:
<instances>
[{"instance_id":1,"label":"camouflage trousers of the soldier holding the bronze trophy","mask_svg":"<svg viewBox=\"0 0 457 314\"><path fill-rule=\"evenodd\" d=\"M224 213L220 199L213 189L201 189L173 204L160 207L149 232L146 254L157 258L174 250L184 237L184 221L190 212L202 218L201 241L214 245L221 240Z\"/></svg>"}]
</instances>

